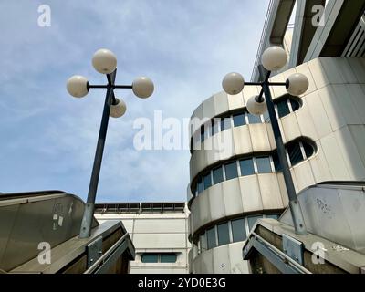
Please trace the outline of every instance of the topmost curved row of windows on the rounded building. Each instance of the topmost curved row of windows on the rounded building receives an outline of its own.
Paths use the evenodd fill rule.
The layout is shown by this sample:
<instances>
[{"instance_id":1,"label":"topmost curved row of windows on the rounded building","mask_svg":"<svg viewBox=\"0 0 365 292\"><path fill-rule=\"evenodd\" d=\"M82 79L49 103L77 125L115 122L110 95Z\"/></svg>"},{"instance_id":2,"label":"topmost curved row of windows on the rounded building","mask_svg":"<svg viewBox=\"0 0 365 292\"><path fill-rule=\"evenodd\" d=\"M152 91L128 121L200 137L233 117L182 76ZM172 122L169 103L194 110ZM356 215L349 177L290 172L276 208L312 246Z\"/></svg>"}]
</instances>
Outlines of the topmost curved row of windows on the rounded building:
<instances>
[{"instance_id":1,"label":"topmost curved row of windows on the rounded building","mask_svg":"<svg viewBox=\"0 0 365 292\"><path fill-rule=\"evenodd\" d=\"M283 118L288 114L299 110L300 103L297 99L288 96L284 99L276 99L276 116ZM213 137L218 132L229 130L234 127L242 127L249 124L269 123L270 118L268 111L264 115L256 116L249 113L246 109L235 111L235 114L226 114L220 118L214 118L208 123L201 126L198 132L195 132L191 140L191 151L193 152L193 141L203 143L209 137Z\"/></svg>"}]
</instances>

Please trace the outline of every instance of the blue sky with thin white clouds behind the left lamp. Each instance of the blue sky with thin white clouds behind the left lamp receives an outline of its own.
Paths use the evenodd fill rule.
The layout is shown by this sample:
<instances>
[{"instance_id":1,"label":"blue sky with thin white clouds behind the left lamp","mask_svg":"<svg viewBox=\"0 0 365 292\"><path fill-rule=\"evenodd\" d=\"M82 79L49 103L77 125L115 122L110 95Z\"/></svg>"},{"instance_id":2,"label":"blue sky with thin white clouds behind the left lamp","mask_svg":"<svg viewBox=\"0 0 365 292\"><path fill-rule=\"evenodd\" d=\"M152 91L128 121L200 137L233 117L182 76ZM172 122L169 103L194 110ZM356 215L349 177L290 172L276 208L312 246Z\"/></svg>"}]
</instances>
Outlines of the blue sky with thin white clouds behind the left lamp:
<instances>
[{"instance_id":1,"label":"blue sky with thin white clouds behind the left lamp","mask_svg":"<svg viewBox=\"0 0 365 292\"><path fill-rule=\"evenodd\" d=\"M37 25L39 5L51 26ZM268 0L10 1L0 3L0 192L63 190L86 199L102 90L73 99L66 80L105 83L91 66L100 47L118 57L117 82L141 75L151 99L116 95L127 113L110 120L97 201L183 201L189 151L136 151L133 121L189 118L231 71L251 77Z\"/></svg>"}]
</instances>

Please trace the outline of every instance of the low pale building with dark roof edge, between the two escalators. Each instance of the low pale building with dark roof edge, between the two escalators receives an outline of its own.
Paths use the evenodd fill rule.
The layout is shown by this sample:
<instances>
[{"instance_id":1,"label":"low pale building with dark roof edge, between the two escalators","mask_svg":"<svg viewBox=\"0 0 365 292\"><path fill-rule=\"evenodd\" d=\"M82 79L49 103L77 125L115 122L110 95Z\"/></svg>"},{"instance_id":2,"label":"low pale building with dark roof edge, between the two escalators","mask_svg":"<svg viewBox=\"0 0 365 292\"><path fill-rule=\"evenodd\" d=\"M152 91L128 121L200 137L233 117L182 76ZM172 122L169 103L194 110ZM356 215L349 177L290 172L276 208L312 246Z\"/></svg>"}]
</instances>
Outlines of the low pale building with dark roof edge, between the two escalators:
<instances>
[{"instance_id":1,"label":"low pale building with dark roof edge, between the two escalators","mask_svg":"<svg viewBox=\"0 0 365 292\"><path fill-rule=\"evenodd\" d=\"M188 273L188 214L186 203L98 203L100 224L121 220L135 246L131 274Z\"/></svg>"}]
</instances>

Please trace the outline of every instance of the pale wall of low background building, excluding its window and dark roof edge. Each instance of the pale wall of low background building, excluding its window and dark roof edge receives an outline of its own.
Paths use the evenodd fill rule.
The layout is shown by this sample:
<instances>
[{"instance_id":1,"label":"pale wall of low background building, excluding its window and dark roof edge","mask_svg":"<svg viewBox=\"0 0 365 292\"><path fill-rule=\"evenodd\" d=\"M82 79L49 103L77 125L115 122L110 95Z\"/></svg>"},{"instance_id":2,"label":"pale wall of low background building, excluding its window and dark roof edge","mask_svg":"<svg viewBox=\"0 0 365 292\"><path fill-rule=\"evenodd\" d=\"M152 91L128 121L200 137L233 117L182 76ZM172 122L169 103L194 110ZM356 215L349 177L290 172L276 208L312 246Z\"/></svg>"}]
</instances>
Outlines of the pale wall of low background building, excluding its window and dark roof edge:
<instances>
[{"instance_id":1,"label":"pale wall of low background building, excluding its window and dark roof edge","mask_svg":"<svg viewBox=\"0 0 365 292\"><path fill-rule=\"evenodd\" d=\"M131 274L185 274L188 273L188 211L184 213L158 214L100 214L99 223L121 220L130 233L136 248L136 259L130 262ZM173 264L142 263L144 253L175 253Z\"/></svg>"}]
</instances>

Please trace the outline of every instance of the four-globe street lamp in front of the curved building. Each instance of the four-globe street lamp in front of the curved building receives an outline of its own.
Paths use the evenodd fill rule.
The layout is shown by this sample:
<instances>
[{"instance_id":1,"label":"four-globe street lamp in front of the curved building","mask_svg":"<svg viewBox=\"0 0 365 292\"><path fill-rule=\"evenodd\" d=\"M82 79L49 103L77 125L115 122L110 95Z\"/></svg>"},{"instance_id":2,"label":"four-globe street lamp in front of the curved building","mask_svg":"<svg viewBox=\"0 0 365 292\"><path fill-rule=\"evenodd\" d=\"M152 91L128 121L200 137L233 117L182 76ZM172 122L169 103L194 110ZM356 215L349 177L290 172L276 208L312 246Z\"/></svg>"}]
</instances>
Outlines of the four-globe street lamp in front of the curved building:
<instances>
[{"instance_id":1,"label":"four-globe street lamp in front of the curved building","mask_svg":"<svg viewBox=\"0 0 365 292\"><path fill-rule=\"evenodd\" d=\"M271 72L279 70L287 64L287 52L282 47L267 48L261 60L262 65L258 66L260 82L245 82L245 79L240 74L230 73L224 77L222 86L224 91L230 95L240 93L246 85L261 86L260 94L247 101L247 110L255 115L264 114L266 110L268 110L276 141L279 162L283 168L287 195L289 197L289 208L293 217L294 228L297 235L307 235L307 228L304 222L303 213L300 208L299 201L297 200L296 189L287 163L287 154L277 121L274 102L270 93L270 86L285 86L289 94L299 96L307 91L309 81L305 75L296 73L289 76L286 82L269 82Z\"/></svg>"}]
</instances>

